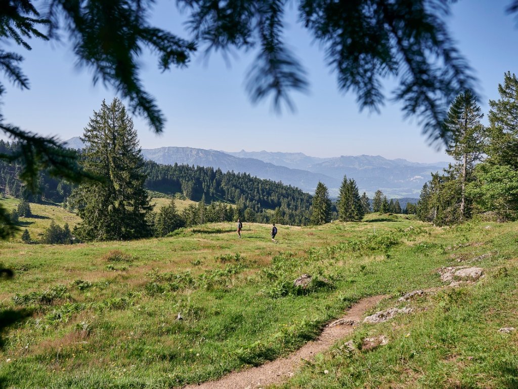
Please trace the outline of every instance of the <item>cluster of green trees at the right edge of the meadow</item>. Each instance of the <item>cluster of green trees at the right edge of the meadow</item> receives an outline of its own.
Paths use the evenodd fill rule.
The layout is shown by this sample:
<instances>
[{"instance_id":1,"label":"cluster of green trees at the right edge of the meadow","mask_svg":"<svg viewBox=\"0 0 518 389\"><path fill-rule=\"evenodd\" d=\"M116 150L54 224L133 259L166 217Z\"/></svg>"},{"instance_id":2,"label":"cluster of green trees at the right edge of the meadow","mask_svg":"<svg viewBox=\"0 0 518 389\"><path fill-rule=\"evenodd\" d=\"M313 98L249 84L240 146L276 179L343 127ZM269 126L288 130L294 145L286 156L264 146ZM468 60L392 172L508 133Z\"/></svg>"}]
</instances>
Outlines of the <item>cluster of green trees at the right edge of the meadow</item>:
<instances>
[{"instance_id":1,"label":"cluster of green trees at the right edge of the meadow","mask_svg":"<svg viewBox=\"0 0 518 389\"><path fill-rule=\"evenodd\" d=\"M507 72L490 100L484 126L470 91L457 96L444 120L447 152L455 160L431 175L421 190L416 214L449 225L480 214L498 221L518 217L518 79Z\"/></svg>"}]
</instances>

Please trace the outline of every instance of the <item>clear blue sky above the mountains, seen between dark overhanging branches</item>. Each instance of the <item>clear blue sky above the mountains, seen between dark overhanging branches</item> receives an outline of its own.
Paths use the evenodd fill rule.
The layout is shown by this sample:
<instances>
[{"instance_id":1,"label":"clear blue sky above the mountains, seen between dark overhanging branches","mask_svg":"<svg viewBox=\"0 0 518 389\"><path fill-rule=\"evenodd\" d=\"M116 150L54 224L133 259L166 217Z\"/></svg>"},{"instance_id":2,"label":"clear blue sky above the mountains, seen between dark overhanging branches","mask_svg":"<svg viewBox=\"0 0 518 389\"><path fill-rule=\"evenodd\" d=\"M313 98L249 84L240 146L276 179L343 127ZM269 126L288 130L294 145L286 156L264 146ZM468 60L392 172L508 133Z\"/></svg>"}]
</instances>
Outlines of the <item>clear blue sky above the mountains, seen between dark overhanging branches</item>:
<instances>
[{"instance_id":1,"label":"clear blue sky above the mountains, seen between dark overhanging branches","mask_svg":"<svg viewBox=\"0 0 518 389\"><path fill-rule=\"evenodd\" d=\"M159 0L154 22L182 35L182 18L175 2ZM510 0L461 0L448 20L453 37L479 80L482 110L497 99L503 73L518 73L518 28L506 15ZM287 16L286 40L308 71L310 92L293 93L296 112L276 114L270 102L252 105L243 88L251 53L237 53L231 65L219 54L208 60L197 55L189 68L161 73L156 58L142 57L142 79L167 118L162 135L135 118L143 148L189 146L237 151L304 152L316 157L381 155L416 162L448 160L426 142L415 120L405 120L397 104L387 102L381 113L359 112L355 96L337 90L336 79L324 63L324 53L311 37ZM184 34L185 35L185 34ZM33 41L21 52L31 89L8 87L2 112L6 121L23 129L62 140L82 134L93 110L115 95L93 86L91 73L78 69L66 40ZM387 82L387 85L390 81ZM387 91L389 94L390 91Z\"/></svg>"}]
</instances>

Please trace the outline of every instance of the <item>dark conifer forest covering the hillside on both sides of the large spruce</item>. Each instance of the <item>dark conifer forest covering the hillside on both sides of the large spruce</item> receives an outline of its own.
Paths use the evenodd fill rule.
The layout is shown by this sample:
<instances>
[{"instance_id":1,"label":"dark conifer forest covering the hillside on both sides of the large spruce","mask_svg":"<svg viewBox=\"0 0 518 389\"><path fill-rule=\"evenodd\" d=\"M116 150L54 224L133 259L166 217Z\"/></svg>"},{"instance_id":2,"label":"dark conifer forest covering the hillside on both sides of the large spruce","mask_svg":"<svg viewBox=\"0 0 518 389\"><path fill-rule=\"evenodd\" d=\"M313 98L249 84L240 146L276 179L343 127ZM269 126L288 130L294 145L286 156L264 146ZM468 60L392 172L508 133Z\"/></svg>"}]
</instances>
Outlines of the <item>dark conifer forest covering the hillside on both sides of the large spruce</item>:
<instances>
[{"instance_id":1,"label":"dark conifer forest covering the hillside on both sides of the large spruce","mask_svg":"<svg viewBox=\"0 0 518 389\"><path fill-rule=\"evenodd\" d=\"M13 154L18 147L16 142L0 140L0 152L6 155ZM67 206L73 207L68 201L74 189L72 185L41 172L39 190L31 193L18 178L19 171L19 166L0 160L0 195L33 203L68 203ZM142 173L148 190L167 195L181 193L184 198L197 202L204 199L206 212L195 212L191 207L184 215L186 225L237 220L238 217L250 222L293 225L306 225L310 221L312 196L309 193L247 173L223 173L221 169L210 167L161 165L152 161L143 162ZM206 216L200 218L198 214Z\"/></svg>"}]
</instances>

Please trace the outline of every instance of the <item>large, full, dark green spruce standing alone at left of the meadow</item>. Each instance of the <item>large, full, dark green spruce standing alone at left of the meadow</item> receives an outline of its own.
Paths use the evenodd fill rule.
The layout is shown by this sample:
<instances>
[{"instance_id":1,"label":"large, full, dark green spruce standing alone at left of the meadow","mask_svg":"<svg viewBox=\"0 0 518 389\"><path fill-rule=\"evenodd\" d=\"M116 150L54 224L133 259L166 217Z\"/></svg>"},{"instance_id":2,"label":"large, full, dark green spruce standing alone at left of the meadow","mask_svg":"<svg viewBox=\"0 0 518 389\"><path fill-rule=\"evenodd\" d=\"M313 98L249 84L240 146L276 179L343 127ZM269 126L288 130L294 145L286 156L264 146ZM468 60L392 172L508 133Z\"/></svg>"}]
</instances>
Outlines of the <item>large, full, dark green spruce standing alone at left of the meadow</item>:
<instances>
[{"instance_id":1,"label":"large, full, dark green spruce standing alone at left of the meadow","mask_svg":"<svg viewBox=\"0 0 518 389\"><path fill-rule=\"evenodd\" d=\"M132 119L119 99L103 101L81 141L84 170L104 178L82 183L73 194L85 240L136 239L149 235L151 211L142 173L143 158Z\"/></svg>"}]
</instances>

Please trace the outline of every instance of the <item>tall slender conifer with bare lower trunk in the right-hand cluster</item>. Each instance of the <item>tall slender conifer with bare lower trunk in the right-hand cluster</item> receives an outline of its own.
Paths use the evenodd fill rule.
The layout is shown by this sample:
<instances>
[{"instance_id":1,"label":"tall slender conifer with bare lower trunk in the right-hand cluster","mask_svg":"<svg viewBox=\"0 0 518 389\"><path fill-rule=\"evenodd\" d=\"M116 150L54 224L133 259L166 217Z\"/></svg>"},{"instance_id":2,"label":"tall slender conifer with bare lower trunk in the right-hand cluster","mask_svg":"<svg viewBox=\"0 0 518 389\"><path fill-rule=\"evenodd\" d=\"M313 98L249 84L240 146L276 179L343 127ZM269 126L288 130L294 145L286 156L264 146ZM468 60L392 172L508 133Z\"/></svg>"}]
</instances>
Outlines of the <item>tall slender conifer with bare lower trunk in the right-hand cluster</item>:
<instances>
[{"instance_id":1,"label":"tall slender conifer with bare lower trunk in the right-hand cluster","mask_svg":"<svg viewBox=\"0 0 518 389\"><path fill-rule=\"evenodd\" d=\"M466 210L466 184L473 179L474 164L481 160L485 145L485 128L480 120L482 114L477 98L470 91L457 96L444 120L445 129L450 134L447 153L460 166L461 180L460 216L468 215Z\"/></svg>"}]
</instances>

